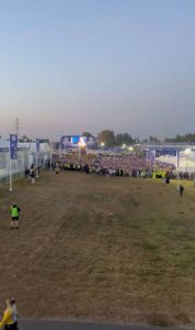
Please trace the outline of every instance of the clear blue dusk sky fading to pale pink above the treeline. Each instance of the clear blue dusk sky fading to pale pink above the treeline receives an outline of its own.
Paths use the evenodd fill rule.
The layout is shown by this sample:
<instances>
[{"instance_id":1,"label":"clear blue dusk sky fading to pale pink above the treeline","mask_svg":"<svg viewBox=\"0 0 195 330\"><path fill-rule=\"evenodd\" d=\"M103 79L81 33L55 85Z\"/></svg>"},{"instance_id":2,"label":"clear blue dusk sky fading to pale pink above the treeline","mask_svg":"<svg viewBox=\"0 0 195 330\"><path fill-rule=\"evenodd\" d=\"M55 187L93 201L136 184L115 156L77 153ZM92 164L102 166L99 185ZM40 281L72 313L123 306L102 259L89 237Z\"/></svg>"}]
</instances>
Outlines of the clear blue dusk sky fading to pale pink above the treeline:
<instances>
[{"instance_id":1,"label":"clear blue dusk sky fading to pale pink above the treeline","mask_svg":"<svg viewBox=\"0 0 195 330\"><path fill-rule=\"evenodd\" d=\"M194 0L0 0L0 134L195 133Z\"/></svg>"}]
</instances>

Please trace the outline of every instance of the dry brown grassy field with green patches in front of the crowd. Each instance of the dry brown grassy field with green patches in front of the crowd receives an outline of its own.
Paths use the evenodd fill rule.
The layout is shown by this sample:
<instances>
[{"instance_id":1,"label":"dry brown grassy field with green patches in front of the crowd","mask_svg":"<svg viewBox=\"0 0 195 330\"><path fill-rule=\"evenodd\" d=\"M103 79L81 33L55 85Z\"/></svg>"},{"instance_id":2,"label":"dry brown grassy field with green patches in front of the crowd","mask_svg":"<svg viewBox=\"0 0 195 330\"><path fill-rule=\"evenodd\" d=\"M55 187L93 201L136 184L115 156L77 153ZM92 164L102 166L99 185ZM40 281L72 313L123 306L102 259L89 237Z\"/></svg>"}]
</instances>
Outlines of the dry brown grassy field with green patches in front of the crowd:
<instances>
[{"instance_id":1,"label":"dry brown grassy field with green patches in front of the crowd","mask_svg":"<svg viewBox=\"0 0 195 330\"><path fill-rule=\"evenodd\" d=\"M195 320L195 188L42 173L0 187L0 309L150 324ZM22 211L10 229L9 208Z\"/></svg>"}]
</instances>

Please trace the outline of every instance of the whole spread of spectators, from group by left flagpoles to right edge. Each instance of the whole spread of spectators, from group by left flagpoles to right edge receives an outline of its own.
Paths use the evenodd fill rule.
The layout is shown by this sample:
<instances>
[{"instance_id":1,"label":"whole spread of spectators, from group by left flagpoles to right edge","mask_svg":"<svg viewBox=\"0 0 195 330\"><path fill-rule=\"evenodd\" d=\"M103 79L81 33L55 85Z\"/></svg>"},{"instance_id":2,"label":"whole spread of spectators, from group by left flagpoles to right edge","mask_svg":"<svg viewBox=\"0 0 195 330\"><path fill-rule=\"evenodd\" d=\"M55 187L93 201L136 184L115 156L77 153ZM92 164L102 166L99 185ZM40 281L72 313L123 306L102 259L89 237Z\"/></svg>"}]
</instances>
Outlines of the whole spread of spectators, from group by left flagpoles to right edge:
<instances>
[{"instance_id":1,"label":"whole spread of spectators, from group by left flagpoles to right edge","mask_svg":"<svg viewBox=\"0 0 195 330\"><path fill-rule=\"evenodd\" d=\"M44 164L42 164L44 166ZM104 154L67 154L62 156L56 155L53 162L47 161L45 167L53 169L55 174L59 170L79 170L87 174L97 174L107 176L131 176L131 177L153 177L169 179L192 179L195 173L179 172L175 165L146 160L145 157L131 155L104 155ZM35 184L35 178L39 176L41 166L37 168L34 164L30 168L25 167L24 176Z\"/></svg>"}]
</instances>

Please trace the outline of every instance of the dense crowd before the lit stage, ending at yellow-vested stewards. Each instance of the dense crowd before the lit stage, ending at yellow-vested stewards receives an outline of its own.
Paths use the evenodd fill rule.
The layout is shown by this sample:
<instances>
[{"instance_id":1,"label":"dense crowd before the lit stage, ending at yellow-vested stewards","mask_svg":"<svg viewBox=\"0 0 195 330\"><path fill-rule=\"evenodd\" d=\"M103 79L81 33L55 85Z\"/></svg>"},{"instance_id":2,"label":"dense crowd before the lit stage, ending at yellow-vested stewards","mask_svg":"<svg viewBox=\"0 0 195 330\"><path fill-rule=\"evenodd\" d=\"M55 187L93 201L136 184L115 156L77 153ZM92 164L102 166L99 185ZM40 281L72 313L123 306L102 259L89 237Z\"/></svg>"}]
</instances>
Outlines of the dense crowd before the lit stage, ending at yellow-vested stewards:
<instances>
[{"instance_id":1,"label":"dense crowd before the lit stage, ending at yellow-vested stewards","mask_svg":"<svg viewBox=\"0 0 195 330\"><path fill-rule=\"evenodd\" d=\"M50 168L50 163L46 164ZM174 165L153 164L153 162L139 157L137 155L85 155L67 154L56 157L53 161L51 168L60 168L65 170L82 170L87 174L108 175L108 176L140 176L152 177L153 172L157 176L163 176L170 173L175 175Z\"/></svg>"}]
</instances>

